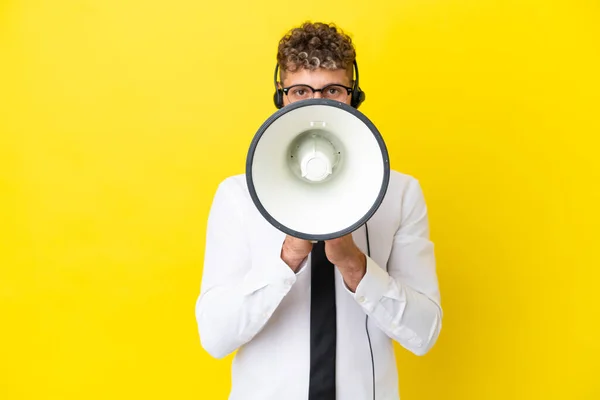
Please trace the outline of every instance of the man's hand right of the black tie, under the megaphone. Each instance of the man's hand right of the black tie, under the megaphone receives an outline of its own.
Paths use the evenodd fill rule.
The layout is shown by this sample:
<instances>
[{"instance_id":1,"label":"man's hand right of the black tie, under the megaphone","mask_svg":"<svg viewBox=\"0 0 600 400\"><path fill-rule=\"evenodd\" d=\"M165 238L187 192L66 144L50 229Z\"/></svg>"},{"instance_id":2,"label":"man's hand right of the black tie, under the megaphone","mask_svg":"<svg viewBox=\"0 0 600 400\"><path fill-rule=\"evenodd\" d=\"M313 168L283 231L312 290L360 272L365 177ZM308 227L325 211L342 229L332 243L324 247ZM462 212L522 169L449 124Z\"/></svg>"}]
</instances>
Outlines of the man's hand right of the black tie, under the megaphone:
<instances>
[{"instance_id":1,"label":"man's hand right of the black tie, under the megaphone","mask_svg":"<svg viewBox=\"0 0 600 400\"><path fill-rule=\"evenodd\" d=\"M367 257L360 251L352 235L325 241L327 259L340 270L346 286L354 292L367 271Z\"/></svg>"}]
</instances>

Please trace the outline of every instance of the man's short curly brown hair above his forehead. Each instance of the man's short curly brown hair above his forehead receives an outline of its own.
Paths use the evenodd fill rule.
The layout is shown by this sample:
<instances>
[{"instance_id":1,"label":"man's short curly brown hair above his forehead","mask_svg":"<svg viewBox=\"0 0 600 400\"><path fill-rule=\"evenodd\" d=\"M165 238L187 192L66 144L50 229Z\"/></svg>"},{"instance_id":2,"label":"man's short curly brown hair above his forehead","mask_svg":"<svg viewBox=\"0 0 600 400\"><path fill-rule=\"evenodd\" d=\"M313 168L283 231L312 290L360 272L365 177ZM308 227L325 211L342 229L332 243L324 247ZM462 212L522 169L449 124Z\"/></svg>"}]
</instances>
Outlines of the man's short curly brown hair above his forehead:
<instances>
[{"instance_id":1,"label":"man's short curly brown hair above his forehead","mask_svg":"<svg viewBox=\"0 0 600 400\"><path fill-rule=\"evenodd\" d=\"M352 71L356 50L352 39L335 24L305 22L291 29L280 41L277 63L281 77L301 68Z\"/></svg>"}]
</instances>

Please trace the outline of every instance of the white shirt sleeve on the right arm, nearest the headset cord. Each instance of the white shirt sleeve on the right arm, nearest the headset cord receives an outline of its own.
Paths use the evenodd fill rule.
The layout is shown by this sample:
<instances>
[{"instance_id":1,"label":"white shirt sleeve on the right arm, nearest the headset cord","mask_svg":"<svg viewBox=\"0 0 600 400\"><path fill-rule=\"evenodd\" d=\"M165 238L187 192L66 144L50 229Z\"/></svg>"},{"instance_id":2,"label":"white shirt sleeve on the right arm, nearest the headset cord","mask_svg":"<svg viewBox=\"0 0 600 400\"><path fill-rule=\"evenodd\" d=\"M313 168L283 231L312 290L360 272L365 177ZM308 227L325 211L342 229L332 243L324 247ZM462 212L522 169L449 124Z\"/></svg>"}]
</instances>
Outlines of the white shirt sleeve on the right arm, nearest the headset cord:
<instances>
[{"instance_id":1,"label":"white shirt sleeve on the right arm, nearest the headset cord","mask_svg":"<svg viewBox=\"0 0 600 400\"><path fill-rule=\"evenodd\" d=\"M403 202L387 270L367 257L366 274L350 293L390 338L424 355L439 336L442 308L427 207L416 180Z\"/></svg>"}]
</instances>

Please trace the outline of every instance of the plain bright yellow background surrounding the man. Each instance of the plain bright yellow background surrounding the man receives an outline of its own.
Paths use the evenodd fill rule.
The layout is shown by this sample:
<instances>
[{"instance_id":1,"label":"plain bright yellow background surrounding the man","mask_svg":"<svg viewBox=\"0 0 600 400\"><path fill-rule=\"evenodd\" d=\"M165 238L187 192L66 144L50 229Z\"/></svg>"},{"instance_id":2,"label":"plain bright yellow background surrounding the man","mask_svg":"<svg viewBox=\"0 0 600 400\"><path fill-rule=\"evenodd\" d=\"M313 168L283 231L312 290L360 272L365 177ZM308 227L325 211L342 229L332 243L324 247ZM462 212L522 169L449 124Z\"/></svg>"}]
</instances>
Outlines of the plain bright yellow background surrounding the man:
<instances>
[{"instance_id":1,"label":"plain bright yellow background surrounding the man","mask_svg":"<svg viewBox=\"0 0 600 400\"><path fill-rule=\"evenodd\" d=\"M445 320L403 400L600 398L598 2L4 0L1 399L226 398L205 222L305 19L354 37L430 207Z\"/></svg>"}]
</instances>

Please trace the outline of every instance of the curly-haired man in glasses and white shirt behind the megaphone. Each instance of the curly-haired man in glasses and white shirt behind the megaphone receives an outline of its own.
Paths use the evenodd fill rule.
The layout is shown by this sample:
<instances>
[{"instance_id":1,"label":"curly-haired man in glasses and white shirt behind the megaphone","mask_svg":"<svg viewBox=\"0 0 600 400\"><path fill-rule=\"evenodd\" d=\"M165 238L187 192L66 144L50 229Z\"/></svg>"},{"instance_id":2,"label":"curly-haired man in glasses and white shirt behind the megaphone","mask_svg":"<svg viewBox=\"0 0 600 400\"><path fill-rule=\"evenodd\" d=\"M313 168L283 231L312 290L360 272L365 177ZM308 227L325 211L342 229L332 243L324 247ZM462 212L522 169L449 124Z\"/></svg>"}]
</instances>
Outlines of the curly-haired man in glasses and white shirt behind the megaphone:
<instances>
[{"instance_id":1,"label":"curly-haired man in glasses and white shirt behind the megaphone","mask_svg":"<svg viewBox=\"0 0 600 400\"><path fill-rule=\"evenodd\" d=\"M352 103L355 50L335 26L306 23L291 30L279 43L277 61L282 106L313 97ZM311 311L311 277L327 268L311 257L315 246L270 225L244 175L219 185L196 320L212 356L237 350L230 400L399 399L393 343L424 355L436 342L440 294L427 208L414 178L392 171L366 226L320 250L335 266L335 344L326 349L335 364L326 373L315 372L328 362L314 354L311 335L311 313L320 312ZM333 383L316 388L328 373Z\"/></svg>"}]
</instances>

